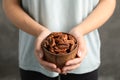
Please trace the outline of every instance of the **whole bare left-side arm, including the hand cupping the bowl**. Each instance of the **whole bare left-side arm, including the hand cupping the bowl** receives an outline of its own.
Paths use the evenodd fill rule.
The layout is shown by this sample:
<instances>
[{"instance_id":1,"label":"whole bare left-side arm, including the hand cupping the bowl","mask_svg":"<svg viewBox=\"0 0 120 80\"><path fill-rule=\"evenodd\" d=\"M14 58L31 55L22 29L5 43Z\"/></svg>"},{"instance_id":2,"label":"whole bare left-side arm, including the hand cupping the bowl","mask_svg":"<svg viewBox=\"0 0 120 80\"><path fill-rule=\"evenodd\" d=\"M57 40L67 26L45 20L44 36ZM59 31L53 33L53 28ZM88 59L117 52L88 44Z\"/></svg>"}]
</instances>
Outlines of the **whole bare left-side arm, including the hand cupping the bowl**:
<instances>
[{"instance_id":1,"label":"whole bare left-side arm, including the hand cupping the bowl","mask_svg":"<svg viewBox=\"0 0 120 80\"><path fill-rule=\"evenodd\" d=\"M39 63L50 71L60 72L55 64L43 60L43 53L40 47L42 40L51 32L23 11L20 7L20 0L3 0L3 9L7 17L16 27L37 37L35 55Z\"/></svg>"}]
</instances>

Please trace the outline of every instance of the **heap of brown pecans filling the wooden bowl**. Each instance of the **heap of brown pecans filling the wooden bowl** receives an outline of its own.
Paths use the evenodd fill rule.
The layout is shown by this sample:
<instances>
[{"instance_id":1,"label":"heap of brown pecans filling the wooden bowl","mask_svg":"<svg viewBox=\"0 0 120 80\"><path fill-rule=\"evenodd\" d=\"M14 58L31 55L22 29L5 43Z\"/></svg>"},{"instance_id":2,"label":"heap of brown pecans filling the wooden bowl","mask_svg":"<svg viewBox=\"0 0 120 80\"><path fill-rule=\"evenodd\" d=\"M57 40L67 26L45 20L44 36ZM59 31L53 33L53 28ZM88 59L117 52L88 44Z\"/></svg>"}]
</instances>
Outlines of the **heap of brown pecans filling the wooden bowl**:
<instances>
[{"instance_id":1,"label":"heap of brown pecans filling the wooden bowl","mask_svg":"<svg viewBox=\"0 0 120 80\"><path fill-rule=\"evenodd\" d=\"M77 41L70 34L53 32L43 41L42 46L54 54L66 54L76 48Z\"/></svg>"}]
</instances>

